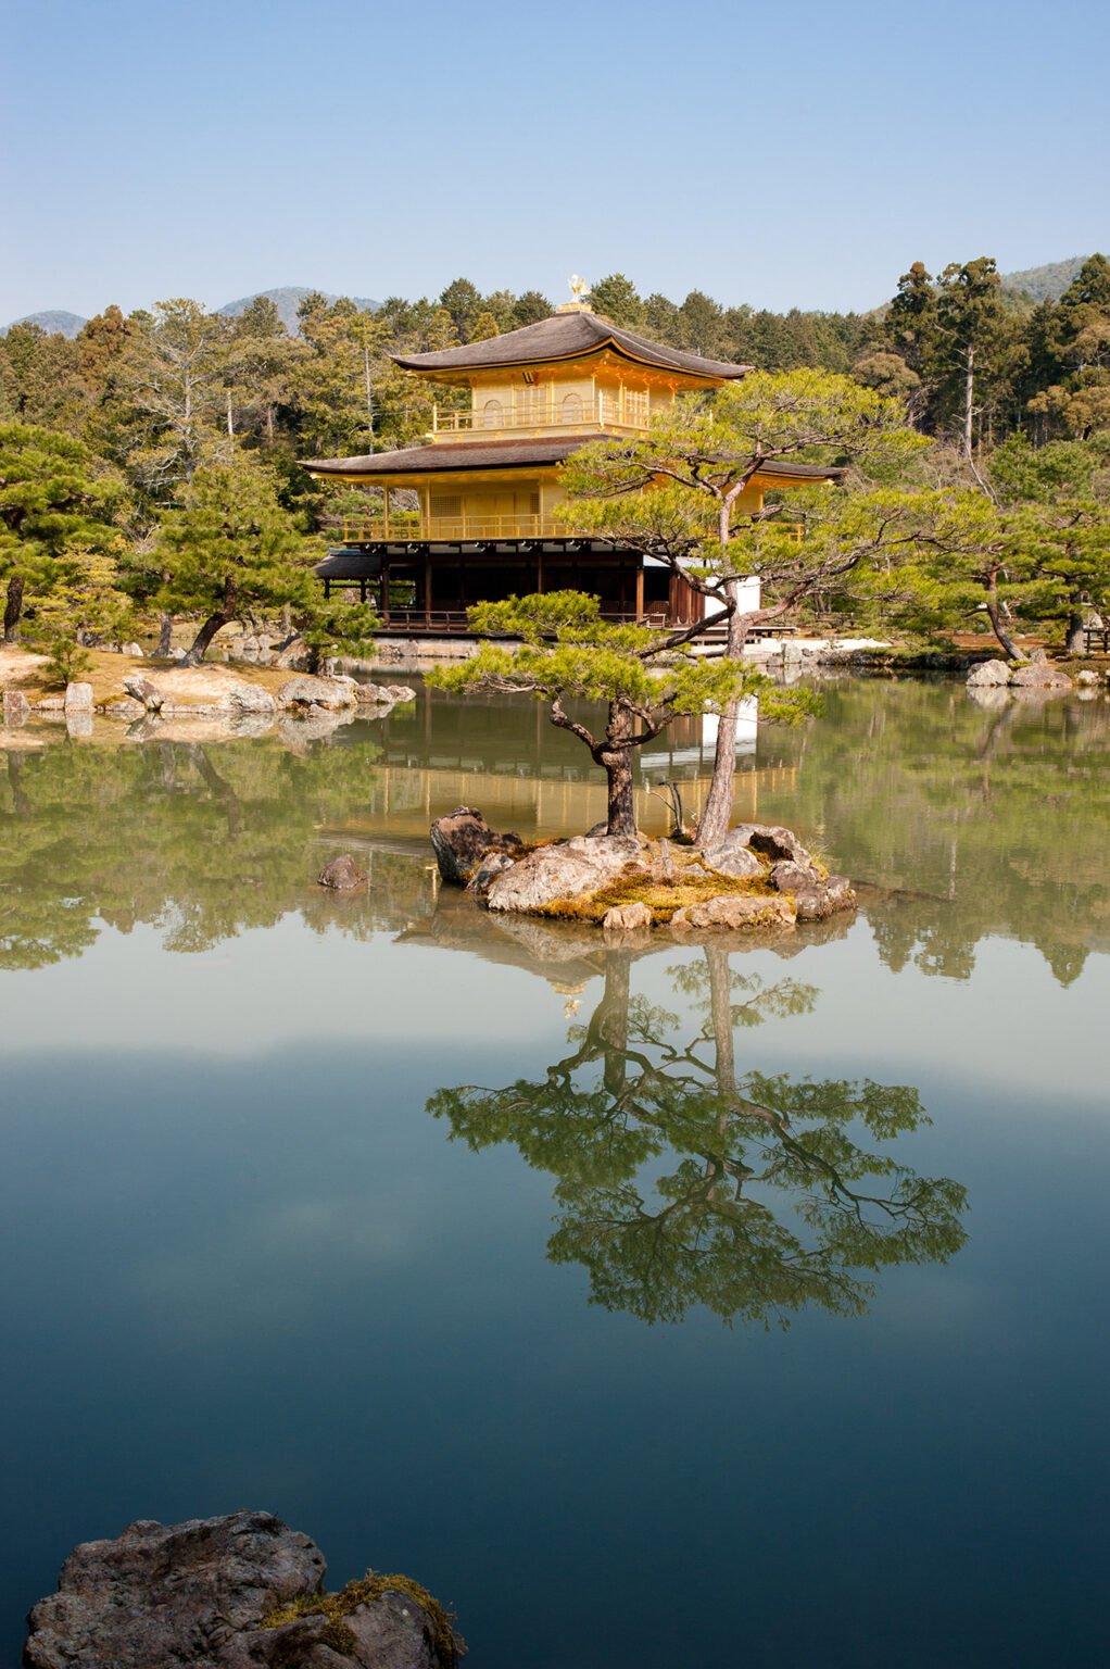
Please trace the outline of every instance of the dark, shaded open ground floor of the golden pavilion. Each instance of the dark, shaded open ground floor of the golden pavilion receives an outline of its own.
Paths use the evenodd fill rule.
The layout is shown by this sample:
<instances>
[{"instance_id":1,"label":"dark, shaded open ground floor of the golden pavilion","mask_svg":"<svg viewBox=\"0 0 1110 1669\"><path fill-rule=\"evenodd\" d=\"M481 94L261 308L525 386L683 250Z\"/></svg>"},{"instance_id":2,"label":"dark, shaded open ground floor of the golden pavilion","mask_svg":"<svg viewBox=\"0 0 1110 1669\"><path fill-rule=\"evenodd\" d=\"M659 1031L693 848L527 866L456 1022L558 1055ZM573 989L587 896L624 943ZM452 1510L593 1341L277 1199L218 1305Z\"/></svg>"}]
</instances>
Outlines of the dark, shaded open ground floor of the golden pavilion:
<instances>
[{"instance_id":1,"label":"dark, shaded open ground floor of the golden pavilion","mask_svg":"<svg viewBox=\"0 0 1110 1669\"><path fill-rule=\"evenodd\" d=\"M412 539L346 544L315 569L324 594L357 594L381 631L466 634L467 608L509 596L586 591L613 621L689 626L704 599L681 574L599 539Z\"/></svg>"}]
</instances>

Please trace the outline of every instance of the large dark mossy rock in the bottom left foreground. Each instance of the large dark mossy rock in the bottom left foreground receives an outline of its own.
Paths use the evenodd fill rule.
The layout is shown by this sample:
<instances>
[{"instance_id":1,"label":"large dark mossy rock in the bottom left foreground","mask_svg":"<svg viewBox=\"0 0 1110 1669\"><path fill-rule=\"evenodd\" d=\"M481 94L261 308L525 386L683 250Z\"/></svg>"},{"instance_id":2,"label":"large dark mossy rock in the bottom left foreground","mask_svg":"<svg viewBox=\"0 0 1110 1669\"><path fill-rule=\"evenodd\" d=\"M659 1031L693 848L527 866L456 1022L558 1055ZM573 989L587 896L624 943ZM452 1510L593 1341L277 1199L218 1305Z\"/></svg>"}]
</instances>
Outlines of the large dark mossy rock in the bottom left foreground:
<instances>
[{"instance_id":1,"label":"large dark mossy rock in the bottom left foreground","mask_svg":"<svg viewBox=\"0 0 1110 1669\"><path fill-rule=\"evenodd\" d=\"M23 1669L454 1669L462 1646L417 1584L325 1597L324 1572L269 1512L139 1520L73 1549L28 1617Z\"/></svg>"}]
</instances>

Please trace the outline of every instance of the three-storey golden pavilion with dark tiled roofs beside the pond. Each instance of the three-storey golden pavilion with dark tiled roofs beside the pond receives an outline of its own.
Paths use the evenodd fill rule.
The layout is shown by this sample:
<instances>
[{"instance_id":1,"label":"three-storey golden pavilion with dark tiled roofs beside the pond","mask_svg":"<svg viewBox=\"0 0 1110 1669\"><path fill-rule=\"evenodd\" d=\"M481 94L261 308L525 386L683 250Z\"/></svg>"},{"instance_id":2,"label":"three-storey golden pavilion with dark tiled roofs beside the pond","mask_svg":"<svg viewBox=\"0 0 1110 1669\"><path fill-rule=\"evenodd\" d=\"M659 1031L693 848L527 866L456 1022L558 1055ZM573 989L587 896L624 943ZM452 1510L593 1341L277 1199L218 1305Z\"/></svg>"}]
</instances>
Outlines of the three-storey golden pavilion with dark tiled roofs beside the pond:
<instances>
[{"instance_id":1,"label":"three-storey golden pavilion with dark tiled roofs beside the pond","mask_svg":"<svg viewBox=\"0 0 1110 1669\"><path fill-rule=\"evenodd\" d=\"M347 517L342 547L319 564L325 592L357 589L382 628L402 634L461 633L467 606L537 591L589 591L609 619L699 618L703 598L681 574L556 519L559 466L588 441L639 434L678 394L721 387L751 366L648 342L583 300L506 335L394 361L469 391L469 406L432 407L424 446L307 461L317 479L381 489L381 514ZM826 474L780 464L748 489L753 507L786 477Z\"/></svg>"}]
</instances>

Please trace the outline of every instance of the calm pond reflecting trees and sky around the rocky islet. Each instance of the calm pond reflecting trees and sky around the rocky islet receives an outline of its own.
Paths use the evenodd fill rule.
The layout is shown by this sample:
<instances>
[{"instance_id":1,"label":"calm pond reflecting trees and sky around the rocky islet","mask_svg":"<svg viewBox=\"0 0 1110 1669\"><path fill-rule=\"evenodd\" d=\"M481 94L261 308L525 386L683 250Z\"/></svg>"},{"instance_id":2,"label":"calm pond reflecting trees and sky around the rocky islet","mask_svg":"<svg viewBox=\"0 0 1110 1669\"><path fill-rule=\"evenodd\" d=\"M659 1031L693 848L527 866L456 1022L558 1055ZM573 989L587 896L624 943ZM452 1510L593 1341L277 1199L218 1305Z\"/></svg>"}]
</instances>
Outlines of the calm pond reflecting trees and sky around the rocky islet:
<instances>
[{"instance_id":1,"label":"calm pond reflecting trees and sky around the rocky islet","mask_svg":"<svg viewBox=\"0 0 1110 1669\"><path fill-rule=\"evenodd\" d=\"M603 801L422 689L0 749L0 1664L73 1542L242 1505L476 1669L1105 1662L1110 704L764 726L736 816L861 900L778 945L437 886L431 816Z\"/></svg>"}]
</instances>

